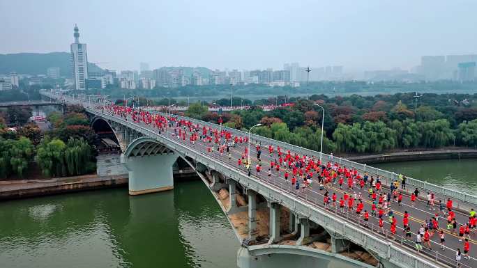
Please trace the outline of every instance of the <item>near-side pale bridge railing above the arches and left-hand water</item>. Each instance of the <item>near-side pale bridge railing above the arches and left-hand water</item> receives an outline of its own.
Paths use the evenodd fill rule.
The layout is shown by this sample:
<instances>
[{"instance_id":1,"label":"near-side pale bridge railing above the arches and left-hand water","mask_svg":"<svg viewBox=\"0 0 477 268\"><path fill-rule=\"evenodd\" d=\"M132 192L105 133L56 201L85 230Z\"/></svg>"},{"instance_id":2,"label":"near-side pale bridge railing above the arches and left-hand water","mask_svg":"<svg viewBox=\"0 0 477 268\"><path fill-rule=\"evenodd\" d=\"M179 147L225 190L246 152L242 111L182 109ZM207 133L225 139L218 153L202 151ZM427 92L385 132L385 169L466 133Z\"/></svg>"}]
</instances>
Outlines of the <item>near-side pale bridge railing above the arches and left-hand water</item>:
<instances>
[{"instance_id":1,"label":"near-side pale bridge railing above the arches and left-hand water","mask_svg":"<svg viewBox=\"0 0 477 268\"><path fill-rule=\"evenodd\" d=\"M438 267L437 265L434 265L423 258L419 258L418 256L409 253L404 249L400 249L396 244L387 242L384 239L379 239L370 232L365 232L365 230L355 227L354 223L347 223L338 216L330 214L326 210L322 210L316 205L312 205L306 200L303 200L303 197L298 198L297 196L294 196L283 189L271 186L270 184L266 184L253 177L248 177L244 171L238 171L236 166L226 162L218 162L216 159L213 159L202 151L194 150L193 148L190 148L179 141L171 139L164 134L156 133L154 129L139 126L121 118L100 113L93 109L88 109L88 111L98 116L108 118L109 120L116 121L117 123L121 123L122 125L126 125L126 127L134 128L146 136L151 136L154 139L157 139L159 142L167 144L169 148L172 148L173 150L176 150L187 157L191 157L192 159L209 166L209 168L213 168L213 170L218 171L227 178L243 184L245 187L247 187L247 189L256 191L258 194L262 194L271 200L281 203L290 210L294 210L295 213L318 223L332 232L340 233L343 237L349 239L351 242L363 246L369 245L370 248L372 247L375 253L377 253L379 256L390 260L396 265L400 265L400 267Z\"/></svg>"}]
</instances>

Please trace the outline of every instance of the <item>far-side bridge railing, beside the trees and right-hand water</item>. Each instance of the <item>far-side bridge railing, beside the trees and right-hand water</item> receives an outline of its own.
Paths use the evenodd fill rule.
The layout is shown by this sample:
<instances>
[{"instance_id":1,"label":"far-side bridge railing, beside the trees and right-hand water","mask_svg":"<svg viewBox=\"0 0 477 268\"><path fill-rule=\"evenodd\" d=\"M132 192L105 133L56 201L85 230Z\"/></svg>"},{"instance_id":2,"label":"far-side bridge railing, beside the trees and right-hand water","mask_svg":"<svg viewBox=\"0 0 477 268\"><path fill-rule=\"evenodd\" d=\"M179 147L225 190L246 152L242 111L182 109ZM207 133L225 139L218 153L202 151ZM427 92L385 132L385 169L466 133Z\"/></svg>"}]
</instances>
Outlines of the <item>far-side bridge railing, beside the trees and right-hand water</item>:
<instances>
[{"instance_id":1,"label":"far-side bridge railing, beside the trees and right-hand water","mask_svg":"<svg viewBox=\"0 0 477 268\"><path fill-rule=\"evenodd\" d=\"M165 116L165 113L160 113L160 114L162 114L162 116ZM190 120L194 123L205 125L208 127L214 127L214 128L219 127L219 125L215 123L209 123L209 122L205 122L205 121L194 119L194 118L188 118L185 116L177 116L177 115L174 115L174 117L184 119L184 120ZM239 129L233 129L233 128L225 127L225 126L222 126L222 129L226 130L227 132L232 132L233 134L236 134L239 136L248 136L248 132L244 132ZM280 148L283 148L284 150L299 152L301 155L308 155L308 156L315 156L315 157L319 157L320 155L320 153L317 151L303 148L301 146L293 145L290 143L285 143L283 141L269 139L264 136L259 136L257 134L250 134L250 139L252 143L261 143L262 145L268 145L268 144L280 145ZM342 157L335 157L335 156L332 157L331 155L328 155L325 153L321 155L321 158L324 159L324 161L334 161L343 166L356 168L358 171L363 171L363 172L368 172L370 174L379 175L379 178L381 179L381 182L384 183L384 185L390 185L391 182L398 180L398 174L393 173L391 171L385 171L380 168L375 168L373 166L368 166L366 164L358 163L356 161L350 161ZM398 180L398 182L400 182L400 180ZM475 205L477 205L477 196L472 196L470 194L462 193L460 191L455 191L453 189L440 187L430 182L416 180L414 178L409 178L406 176L406 185L407 185L408 193L410 193L411 191L414 191L414 188L418 188L420 190L421 197L425 197L425 194L427 193L427 191L429 191L444 198L443 200L444 203L445 203L445 198L451 198L455 201L458 201L457 203L454 203L454 205L455 207L460 208L462 210L470 210Z\"/></svg>"}]
</instances>

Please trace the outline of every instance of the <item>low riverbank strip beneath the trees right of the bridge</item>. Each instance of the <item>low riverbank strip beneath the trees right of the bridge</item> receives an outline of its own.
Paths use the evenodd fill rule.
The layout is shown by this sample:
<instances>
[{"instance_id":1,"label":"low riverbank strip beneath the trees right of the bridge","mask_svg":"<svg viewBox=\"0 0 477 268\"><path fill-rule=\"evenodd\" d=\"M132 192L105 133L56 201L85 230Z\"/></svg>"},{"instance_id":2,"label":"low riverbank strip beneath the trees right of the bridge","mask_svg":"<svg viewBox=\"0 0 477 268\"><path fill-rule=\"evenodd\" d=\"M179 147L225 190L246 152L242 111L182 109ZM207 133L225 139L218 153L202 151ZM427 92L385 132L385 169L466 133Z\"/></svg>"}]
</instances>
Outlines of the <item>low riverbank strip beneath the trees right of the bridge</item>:
<instances>
[{"instance_id":1,"label":"low riverbank strip beneath the trees right of the bridge","mask_svg":"<svg viewBox=\"0 0 477 268\"><path fill-rule=\"evenodd\" d=\"M477 158L477 150L448 149L448 150L421 150L411 152L389 152L379 155L359 155L344 157L361 164L379 164L401 161L441 160L441 159L468 159Z\"/></svg>"}]
</instances>

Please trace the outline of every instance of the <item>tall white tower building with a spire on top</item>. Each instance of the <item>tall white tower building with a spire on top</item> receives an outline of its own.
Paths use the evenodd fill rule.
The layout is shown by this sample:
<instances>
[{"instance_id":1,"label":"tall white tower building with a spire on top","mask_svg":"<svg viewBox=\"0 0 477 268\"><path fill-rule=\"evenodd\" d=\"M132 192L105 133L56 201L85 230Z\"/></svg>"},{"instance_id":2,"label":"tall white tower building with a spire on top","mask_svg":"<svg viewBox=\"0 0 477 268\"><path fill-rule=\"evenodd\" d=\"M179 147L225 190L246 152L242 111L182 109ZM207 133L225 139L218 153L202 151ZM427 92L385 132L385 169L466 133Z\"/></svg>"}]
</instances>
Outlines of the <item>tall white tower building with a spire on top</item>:
<instances>
[{"instance_id":1,"label":"tall white tower building with a spire on top","mask_svg":"<svg viewBox=\"0 0 477 268\"><path fill-rule=\"evenodd\" d=\"M79 30L75 24L75 42L71 44L71 66L73 68L73 83L75 89L86 89L88 79L88 52L86 44L79 42Z\"/></svg>"}]
</instances>

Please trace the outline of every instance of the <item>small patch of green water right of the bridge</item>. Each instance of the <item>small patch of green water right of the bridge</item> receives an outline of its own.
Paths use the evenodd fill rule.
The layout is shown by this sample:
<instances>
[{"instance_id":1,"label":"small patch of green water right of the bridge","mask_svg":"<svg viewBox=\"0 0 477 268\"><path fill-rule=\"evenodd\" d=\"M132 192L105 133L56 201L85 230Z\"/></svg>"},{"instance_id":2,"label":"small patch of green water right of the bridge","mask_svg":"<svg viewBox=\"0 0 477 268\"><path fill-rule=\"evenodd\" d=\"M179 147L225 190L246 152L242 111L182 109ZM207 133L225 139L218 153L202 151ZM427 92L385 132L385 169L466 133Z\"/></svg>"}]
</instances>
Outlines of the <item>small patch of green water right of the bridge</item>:
<instances>
[{"instance_id":1,"label":"small patch of green water right of the bridge","mask_svg":"<svg viewBox=\"0 0 477 268\"><path fill-rule=\"evenodd\" d=\"M409 161L371 166L477 195L477 159Z\"/></svg>"}]
</instances>

